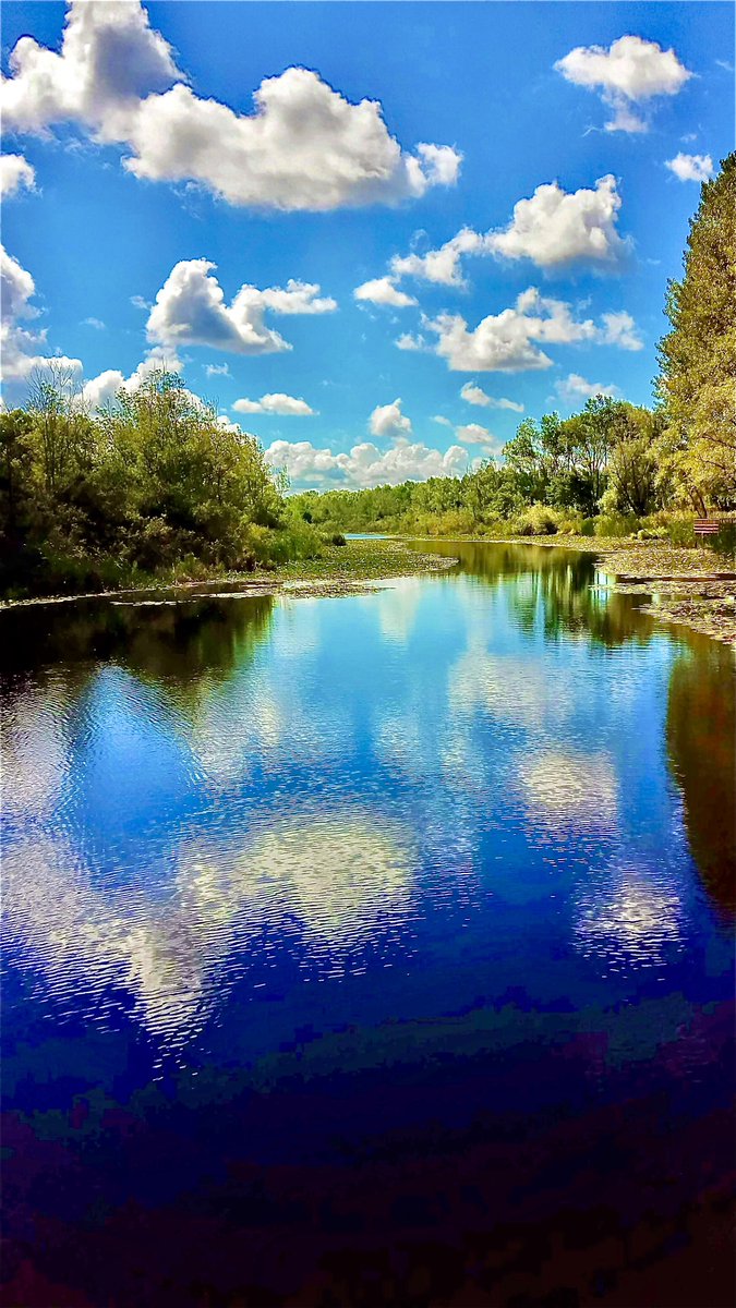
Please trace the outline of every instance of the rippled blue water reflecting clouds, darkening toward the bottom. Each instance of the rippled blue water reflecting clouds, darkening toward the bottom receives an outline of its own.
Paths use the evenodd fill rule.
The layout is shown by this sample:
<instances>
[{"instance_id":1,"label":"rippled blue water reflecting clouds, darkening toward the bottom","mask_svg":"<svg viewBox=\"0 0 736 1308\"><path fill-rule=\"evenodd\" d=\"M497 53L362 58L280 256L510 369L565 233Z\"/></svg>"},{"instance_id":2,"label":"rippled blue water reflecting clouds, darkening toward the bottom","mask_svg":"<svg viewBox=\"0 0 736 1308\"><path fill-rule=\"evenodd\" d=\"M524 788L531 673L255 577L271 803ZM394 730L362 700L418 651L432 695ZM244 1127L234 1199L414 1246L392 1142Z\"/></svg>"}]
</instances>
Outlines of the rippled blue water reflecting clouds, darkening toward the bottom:
<instances>
[{"instance_id":1,"label":"rippled blue water reflecting clouds, darkening toward the bottom","mask_svg":"<svg viewBox=\"0 0 736 1308\"><path fill-rule=\"evenodd\" d=\"M732 1301L732 651L436 548L0 615L5 1303Z\"/></svg>"}]
</instances>

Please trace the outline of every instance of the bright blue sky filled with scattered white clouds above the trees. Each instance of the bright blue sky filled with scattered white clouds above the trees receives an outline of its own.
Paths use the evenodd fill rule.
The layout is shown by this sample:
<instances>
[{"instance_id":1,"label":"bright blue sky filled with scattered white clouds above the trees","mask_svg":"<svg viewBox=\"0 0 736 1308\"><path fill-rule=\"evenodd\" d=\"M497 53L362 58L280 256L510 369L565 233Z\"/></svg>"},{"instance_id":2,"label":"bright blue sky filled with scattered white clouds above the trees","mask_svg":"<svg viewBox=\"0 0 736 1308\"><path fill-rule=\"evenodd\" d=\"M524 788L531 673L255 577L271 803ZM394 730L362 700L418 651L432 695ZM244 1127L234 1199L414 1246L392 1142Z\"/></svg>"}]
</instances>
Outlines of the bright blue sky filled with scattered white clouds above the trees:
<instances>
[{"instance_id":1,"label":"bright blue sky filled with scattered white clouds above the trees","mask_svg":"<svg viewBox=\"0 0 736 1308\"><path fill-rule=\"evenodd\" d=\"M3 396L181 373L293 489L651 403L731 4L3 4Z\"/></svg>"}]
</instances>

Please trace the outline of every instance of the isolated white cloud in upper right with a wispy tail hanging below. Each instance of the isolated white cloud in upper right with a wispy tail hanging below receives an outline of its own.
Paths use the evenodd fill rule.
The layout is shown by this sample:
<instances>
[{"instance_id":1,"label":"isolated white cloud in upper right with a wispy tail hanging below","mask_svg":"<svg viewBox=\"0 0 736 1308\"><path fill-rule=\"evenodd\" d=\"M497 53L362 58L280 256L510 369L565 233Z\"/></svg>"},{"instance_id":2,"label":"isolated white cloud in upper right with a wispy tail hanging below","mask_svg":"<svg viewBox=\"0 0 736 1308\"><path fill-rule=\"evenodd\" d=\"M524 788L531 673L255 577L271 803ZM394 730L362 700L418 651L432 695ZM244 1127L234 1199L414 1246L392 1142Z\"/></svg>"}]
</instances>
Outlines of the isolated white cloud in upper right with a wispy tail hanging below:
<instances>
[{"instance_id":1,"label":"isolated white cloud in upper right with a wispy tail hanging below","mask_svg":"<svg viewBox=\"0 0 736 1308\"><path fill-rule=\"evenodd\" d=\"M676 95L693 73L680 63L674 50L663 50L656 41L619 37L602 46L578 46L554 65L567 81L601 93L613 109L605 124L608 132L646 132L647 122L634 109L657 95Z\"/></svg>"}]
</instances>

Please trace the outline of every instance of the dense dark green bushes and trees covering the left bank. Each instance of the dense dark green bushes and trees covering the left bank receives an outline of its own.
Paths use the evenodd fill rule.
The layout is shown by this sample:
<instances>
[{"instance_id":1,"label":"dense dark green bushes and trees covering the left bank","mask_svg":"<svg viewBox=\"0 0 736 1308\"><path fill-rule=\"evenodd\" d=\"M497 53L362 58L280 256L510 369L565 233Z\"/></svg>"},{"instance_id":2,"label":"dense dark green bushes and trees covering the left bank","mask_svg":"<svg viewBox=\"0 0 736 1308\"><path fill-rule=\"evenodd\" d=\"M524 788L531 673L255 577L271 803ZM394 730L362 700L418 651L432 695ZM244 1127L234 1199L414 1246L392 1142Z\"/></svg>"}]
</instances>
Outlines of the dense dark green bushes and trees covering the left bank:
<instances>
[{"instance_id":1,"label":"dense dark green bushes and trees covering the left bank","mask_svg":"<svg viewBox=\"0 0 736 1308\"><path fill-rule=\"evenodd\" d=\"M92 416L54 365L0 415L0 587L88 591L310 559L259 442L152 373Z\"/></svg>"}]
</instances>

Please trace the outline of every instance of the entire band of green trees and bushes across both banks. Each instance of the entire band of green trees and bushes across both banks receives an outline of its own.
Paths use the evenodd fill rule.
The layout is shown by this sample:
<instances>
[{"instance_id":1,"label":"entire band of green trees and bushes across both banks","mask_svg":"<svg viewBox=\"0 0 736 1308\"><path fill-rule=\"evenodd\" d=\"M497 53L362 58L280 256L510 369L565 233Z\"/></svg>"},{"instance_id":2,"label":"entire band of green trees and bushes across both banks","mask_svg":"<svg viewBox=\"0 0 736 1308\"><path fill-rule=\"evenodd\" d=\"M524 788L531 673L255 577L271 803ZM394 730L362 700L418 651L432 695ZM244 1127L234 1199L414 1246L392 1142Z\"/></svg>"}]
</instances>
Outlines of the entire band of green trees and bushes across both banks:
<instances>
[{"instance_id":1,"label":"entire band of green trees and bushes across both banks","mask_svg":"<svg viewBox=\"0 0 736 1308\"><path fill-rule=\"evenodd\" d=\"M0 413L0 595L22 599L299 570L344 532L736 543L736 154L706 182L667 290L652 408L597 395L525 419L462 477L289 494L254 436L177 374L86 412L71 374L31 375ZM723 566L723 559L719 566Z\"/></svg>"}]
</instances>

